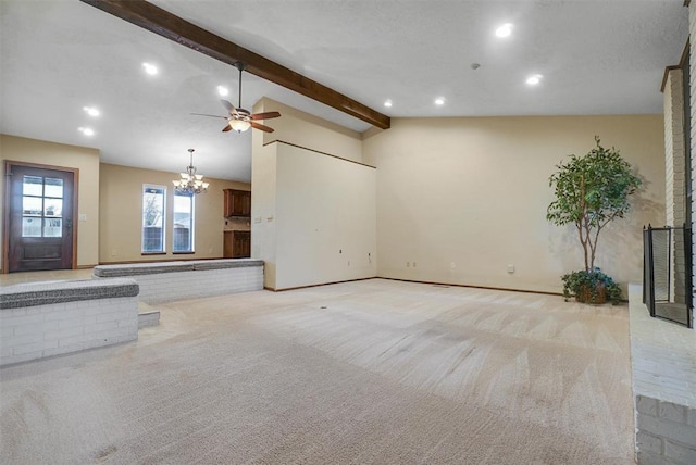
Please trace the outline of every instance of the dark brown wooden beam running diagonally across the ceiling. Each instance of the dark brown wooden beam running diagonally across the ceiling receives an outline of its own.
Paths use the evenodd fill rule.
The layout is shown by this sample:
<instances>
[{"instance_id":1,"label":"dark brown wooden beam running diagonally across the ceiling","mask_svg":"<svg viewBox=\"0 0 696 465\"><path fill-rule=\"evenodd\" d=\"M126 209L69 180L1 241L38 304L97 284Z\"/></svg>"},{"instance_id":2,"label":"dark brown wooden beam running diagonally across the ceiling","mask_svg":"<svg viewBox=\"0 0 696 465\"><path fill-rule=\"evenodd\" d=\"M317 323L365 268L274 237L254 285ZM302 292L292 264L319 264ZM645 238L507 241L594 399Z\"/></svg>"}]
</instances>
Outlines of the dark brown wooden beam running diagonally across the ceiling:
<instances>
[{"instance_id":1,"label":"dark brown wooden beam running diagonally across the ceiling","mask_svg":"<svg viewBox=\"0 0 696 465\"><path fill-rule=\"evenodd\" d=\"M240 61L247 66L245 71L256 76L301 93L381 129L388 129L391 124L389 116L145 0L80 1L223 63L234 65Z\"/></svg>"}]
</instances>

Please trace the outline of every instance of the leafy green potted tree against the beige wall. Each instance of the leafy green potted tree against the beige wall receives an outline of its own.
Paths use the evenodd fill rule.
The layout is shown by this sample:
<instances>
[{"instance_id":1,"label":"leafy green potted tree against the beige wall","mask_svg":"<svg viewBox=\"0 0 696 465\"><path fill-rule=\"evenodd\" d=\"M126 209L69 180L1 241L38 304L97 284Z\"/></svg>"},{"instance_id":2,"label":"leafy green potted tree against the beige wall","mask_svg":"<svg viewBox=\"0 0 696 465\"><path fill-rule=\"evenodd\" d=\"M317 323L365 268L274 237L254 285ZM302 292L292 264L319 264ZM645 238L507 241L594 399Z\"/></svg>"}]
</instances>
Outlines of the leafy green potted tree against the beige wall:
<instances>
[{"instance_id":1,"label":"leafy green potted tree against the beige wall","mask_svg":"<svg viewBox=\"0 0 696 465\"><path fill-rule=\"evenodd\" d=\"M613 147L605 149L598 136L596 147L586 155L570 155L549 178L556 200L546 211L546 219L557 226L573 224L585 255L585 267L561 277L566 299L586 303L621 300L621 288L595 267L599 232L629 212L629 198L642 185L632 166Z\"/></svg>"}]
</instances>

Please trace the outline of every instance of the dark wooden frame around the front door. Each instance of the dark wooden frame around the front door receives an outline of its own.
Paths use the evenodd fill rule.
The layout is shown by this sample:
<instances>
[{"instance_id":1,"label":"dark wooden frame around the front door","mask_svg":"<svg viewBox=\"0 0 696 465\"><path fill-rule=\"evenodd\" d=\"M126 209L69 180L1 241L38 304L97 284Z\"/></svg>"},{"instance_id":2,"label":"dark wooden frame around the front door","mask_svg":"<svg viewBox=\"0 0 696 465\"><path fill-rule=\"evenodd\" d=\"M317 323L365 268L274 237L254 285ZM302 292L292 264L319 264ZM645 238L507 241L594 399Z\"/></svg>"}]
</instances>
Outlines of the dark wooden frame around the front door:
<instances>
[{"instance_id":1,"label":"dark wooden frame around the front door","mask_svg":"<svg viewBox=\"0 0 696 465\"><path fill-rule=\"evenodd\" d=\"M73 256L71 257L71 267L72 269L77 269L77 219L79 215L77 213L77 191L79 184L79 169L78 168L70 168L66 166L55 166L55 165L42 165L39 163L27 163L27 162L17 162L14 160L5 160L4 161L4 200L2 202L2 211L3 211L3 219L2 219L2 274L10 273L10 204L11 204L11 193L12 193L12 167L13 166L22 166L28 168L37 168L37 169L52 169L55 172L66 172L73 174Z\"/></svg>"}]
</instances>

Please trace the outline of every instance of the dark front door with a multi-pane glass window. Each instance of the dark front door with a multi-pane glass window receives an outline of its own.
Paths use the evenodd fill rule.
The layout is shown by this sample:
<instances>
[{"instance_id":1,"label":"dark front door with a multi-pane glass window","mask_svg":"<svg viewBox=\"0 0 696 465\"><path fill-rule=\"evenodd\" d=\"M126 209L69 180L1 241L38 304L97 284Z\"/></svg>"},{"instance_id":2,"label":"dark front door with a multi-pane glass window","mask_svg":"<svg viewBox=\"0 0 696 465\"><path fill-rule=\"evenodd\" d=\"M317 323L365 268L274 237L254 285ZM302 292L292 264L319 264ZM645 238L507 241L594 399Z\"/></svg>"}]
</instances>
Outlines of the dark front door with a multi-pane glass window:
<instances>
[{"instance_id":1,"label":"dark front door with a multi-pane glass window","mask_svg":"<svg viewBox=\"0 0 696 465\"><path fill-rule=\"evenodd\" d=\"M5 162L8 271L74 266L75 172Z\"/></svg>"}]
</instances>

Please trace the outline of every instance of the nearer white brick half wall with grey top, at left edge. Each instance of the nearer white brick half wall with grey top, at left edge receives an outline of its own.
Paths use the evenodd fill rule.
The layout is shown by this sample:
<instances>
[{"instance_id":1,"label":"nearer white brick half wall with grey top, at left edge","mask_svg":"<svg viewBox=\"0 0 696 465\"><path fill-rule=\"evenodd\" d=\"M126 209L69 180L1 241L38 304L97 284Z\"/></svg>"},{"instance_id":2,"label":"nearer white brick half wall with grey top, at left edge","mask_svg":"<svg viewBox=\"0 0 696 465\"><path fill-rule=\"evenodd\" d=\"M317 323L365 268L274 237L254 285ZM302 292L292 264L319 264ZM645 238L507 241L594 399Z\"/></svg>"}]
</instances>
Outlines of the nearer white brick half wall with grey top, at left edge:
<instances>
[{"instance_id":1,"label":"nearer white brick half wall with grey top, at left edge","mask_svg":"<svg viewBox=\"0 0 696 465\"><path fill-rule=\"evenodd\" d=\"M138 338L133 279L8 286L0 297L0 365Z\"/></svg>"}]
</instances>

